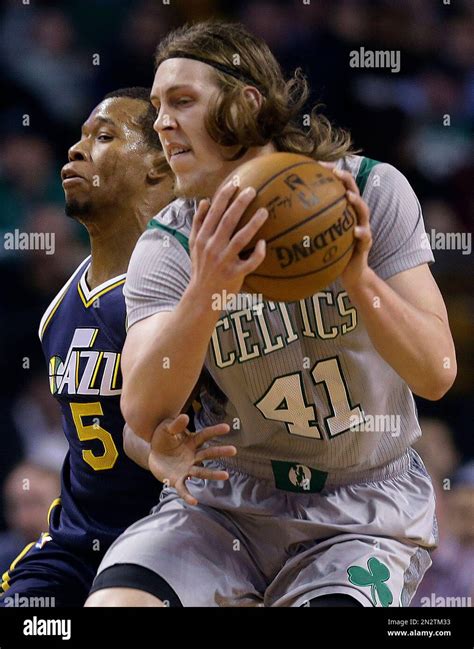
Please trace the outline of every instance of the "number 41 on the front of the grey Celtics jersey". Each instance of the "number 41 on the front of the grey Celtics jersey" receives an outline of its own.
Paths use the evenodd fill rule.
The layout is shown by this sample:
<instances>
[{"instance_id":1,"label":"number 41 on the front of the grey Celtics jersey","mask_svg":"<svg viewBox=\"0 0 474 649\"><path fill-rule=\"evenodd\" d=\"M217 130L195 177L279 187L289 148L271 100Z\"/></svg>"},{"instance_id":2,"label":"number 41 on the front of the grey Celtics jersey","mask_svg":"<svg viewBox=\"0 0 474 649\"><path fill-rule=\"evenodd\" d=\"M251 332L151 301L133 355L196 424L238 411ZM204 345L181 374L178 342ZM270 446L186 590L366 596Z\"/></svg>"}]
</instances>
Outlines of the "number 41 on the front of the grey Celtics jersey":
<instances>
[{"instance_id":1,"label":"number 41 on the front of the grey Celtics jersey","mask_svg":"<svg viewBox=\"0 0 474 649\"><path fill-rule=\"evenodd\" d=\"M364 421L360 405L352 406L339 359L318 361L310 371L313 382L322 383L332 411L324 419L329 437L345 433ZM301 372L279 376L255 404L265 419L282 421L291 435L323 439L314 405L307 399Z\"/></svg>"}]
</instances>

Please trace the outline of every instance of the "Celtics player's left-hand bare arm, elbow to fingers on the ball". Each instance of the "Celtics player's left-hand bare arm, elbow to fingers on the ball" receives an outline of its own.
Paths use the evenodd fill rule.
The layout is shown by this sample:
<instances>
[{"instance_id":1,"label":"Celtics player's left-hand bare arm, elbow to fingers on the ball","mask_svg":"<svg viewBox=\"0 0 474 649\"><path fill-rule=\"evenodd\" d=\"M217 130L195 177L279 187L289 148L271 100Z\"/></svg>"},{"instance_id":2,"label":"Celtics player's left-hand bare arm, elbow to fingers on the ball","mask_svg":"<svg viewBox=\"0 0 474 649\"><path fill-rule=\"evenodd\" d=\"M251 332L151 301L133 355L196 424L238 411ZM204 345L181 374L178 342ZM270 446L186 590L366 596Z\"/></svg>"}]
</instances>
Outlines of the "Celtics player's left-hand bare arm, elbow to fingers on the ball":
<instances>
[{"instance_id":1,"label":"Celtics player's left-hand bare arm, elbow to fingers on the ball","mask_svg":"<svg viewBox=\"0 0 474 649\"><path fill-rule=\"evenodd\" d=\"M150 441L158 423L180 412L204 364L220 311L212 309L216 293L237 293L245 276L262 262L260 241L245 261L239 257L268 216L258 210L232 236L255 190L225 185L209 205L201 201L190 237L191 279L172 311L137 322L128 332L122 356L122 411L127 423ZM164 362L166 359L166 363Z\"/></svg>"}]
</instances>

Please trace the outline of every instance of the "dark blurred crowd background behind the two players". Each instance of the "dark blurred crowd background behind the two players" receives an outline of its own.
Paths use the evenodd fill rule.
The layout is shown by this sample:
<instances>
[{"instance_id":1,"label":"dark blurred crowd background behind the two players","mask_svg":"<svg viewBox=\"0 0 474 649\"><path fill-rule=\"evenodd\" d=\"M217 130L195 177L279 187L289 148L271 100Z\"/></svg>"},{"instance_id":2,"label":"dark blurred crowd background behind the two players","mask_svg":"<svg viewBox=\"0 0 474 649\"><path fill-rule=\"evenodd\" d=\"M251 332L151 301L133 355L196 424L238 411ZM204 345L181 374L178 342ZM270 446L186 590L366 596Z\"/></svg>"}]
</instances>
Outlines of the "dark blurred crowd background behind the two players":
<instances>
[{"instance_id":1,"label":"dark blurred crowd background behind the two players","mask_svg":"<svg viewBox=\"0 0 474 649\"><path fill-rule=\"evenodd\" d=\"M302 67L312 103L365 155L406 174L428 233L474 220L474 3L456 0L3 0L0 3L0 236L54 232L56 252L0 246L0 574L44 530L66 452L37 329L87 254L63 211L59 170L103 95L149 86L168 30L224 17L266 39L285 71ZM308 2L308 0L306 0ZM355 69L350 52L400 50L401 70ZM474 596L473 255L435 250L459 372L441 402L417 399L419 451L438 493L441 543L415 603Z\"/></svg>"}]
</instances>

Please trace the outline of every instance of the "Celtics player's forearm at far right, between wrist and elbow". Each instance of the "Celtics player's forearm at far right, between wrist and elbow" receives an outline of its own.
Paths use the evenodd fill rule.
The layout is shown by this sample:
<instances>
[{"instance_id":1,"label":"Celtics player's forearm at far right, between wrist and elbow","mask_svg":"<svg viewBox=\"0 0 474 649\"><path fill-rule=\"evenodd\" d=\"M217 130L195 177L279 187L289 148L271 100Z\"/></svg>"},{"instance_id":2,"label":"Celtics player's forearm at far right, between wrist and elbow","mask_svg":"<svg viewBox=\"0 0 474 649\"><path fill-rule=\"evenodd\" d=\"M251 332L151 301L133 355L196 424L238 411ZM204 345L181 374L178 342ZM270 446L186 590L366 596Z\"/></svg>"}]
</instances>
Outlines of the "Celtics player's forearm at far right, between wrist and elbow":
<instances>
[{"instance_id":1,"label":"Celtics player's forearm at far right, between wrist and elbow","mask_svg":"<svg viewBox=\"0 0 474 649\"><path fill-rule=\"evenodd\" d=\"M447 324L407 302L370 269L364 282L347 290L382 358L415 394L440 399L456 376Z\"/></svg>"}]
</instances>

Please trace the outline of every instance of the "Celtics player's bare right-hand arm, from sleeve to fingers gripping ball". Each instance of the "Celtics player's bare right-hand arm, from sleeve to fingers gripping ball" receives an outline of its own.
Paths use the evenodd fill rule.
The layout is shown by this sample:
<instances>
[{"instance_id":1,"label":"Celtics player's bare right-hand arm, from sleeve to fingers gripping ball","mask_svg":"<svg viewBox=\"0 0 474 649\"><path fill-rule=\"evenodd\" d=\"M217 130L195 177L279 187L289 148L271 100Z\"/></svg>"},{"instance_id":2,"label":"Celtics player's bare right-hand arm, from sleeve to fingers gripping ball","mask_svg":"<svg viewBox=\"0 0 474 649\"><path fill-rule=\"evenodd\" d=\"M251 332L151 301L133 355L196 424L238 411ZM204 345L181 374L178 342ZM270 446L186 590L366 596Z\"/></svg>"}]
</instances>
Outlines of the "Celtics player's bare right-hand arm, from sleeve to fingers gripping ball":
<instances>
[{"instance_id":1,"label":"Celtics player's bare right-hand arm, from sleeve to fingers gripping ball","mask_svg":"<svg viewBox=\"0 0 474 649\"><path fill-rule=\"evenodd\" d=\"M378 353L415 394L440 399L456 377L456 355L436 282L426 263L386 281L370 268L369 209L353 177L348 172L334 173L348 188L359 219L357 247L342 275L344 287Z\"/></svg>"}]
</instances>

